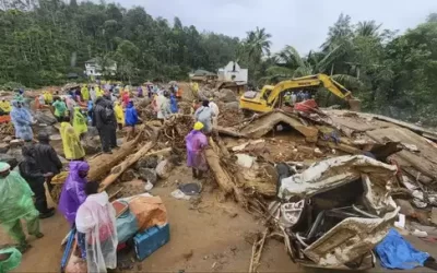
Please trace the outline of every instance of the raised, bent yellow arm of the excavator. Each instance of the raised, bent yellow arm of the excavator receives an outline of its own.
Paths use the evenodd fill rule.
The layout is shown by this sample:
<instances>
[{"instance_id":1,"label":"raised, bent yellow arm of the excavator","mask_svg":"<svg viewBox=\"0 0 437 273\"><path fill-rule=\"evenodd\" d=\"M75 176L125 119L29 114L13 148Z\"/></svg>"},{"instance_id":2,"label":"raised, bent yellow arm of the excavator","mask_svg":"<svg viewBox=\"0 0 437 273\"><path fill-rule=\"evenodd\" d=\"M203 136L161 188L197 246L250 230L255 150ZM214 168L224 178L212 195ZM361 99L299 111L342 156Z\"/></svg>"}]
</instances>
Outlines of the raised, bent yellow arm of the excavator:
<instances>
[{"instance_id":1,"label":"raised, bent yellow arm of the excavator","mask_svg":"<svg viewBox=\"0 0 437 273\"><path fill-rule=\"evenodd\" d=\"M304 87L318 87L322 85L324 88L329 90L335 96L349 100L352 97L351 91L346 90L343 85L332 80L326 74L308 75L303 78L296 78L288 81L280 82L274 86L270 93L267 103L272 105L283 91L291 88L304 88Z\"/></svg>"}]
</instances>

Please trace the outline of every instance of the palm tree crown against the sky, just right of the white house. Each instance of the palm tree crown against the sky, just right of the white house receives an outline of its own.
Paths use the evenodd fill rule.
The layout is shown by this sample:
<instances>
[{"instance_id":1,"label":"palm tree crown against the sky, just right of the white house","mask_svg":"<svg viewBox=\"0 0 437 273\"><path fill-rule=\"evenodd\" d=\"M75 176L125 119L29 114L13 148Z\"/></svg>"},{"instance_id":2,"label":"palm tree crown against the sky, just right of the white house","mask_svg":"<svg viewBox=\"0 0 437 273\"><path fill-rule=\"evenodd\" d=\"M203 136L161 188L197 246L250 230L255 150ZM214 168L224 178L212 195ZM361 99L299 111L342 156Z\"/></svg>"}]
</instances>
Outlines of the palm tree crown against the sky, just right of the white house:
<instances>
[{"instance_id":1,"label":"palm tree crown against the sky, just right of the white house","mask_svg":"<svg viewBox=\"0 0 437 273\"><path fill-rule=\"evenodd\" d=\"M253 32L247 33L247 38L244 40L246 52L250 59L256 62L261 60L263 55L270 55L270 46L272 41L269 39L272 37L271 34L265 32L265 28L259 28Z\"/></svg>"}]
</instances>

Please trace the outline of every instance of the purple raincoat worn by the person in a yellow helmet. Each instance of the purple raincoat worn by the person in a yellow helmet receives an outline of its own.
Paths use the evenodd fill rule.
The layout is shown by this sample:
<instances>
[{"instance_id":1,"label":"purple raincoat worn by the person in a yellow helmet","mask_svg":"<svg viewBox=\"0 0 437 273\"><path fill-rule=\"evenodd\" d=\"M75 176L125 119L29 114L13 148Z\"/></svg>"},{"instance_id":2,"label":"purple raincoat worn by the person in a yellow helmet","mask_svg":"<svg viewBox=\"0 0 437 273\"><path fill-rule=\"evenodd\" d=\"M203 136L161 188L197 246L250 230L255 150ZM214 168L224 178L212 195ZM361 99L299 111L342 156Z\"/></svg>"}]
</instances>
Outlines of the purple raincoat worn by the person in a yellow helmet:
<instances>
[{"instance_id":1,"label":"purple raincoat worn by the person in a yellow helmet","mask_svg":"<svg viewBox=\"0 0 437 273\"><path fill-rule=\"evenodd\" d=\"M206 170L206 158L202 149L208 146L208 139L201 131L191 130L185 138L187 144L187 166L200 170Z\"/></svg>"}]
</instances>

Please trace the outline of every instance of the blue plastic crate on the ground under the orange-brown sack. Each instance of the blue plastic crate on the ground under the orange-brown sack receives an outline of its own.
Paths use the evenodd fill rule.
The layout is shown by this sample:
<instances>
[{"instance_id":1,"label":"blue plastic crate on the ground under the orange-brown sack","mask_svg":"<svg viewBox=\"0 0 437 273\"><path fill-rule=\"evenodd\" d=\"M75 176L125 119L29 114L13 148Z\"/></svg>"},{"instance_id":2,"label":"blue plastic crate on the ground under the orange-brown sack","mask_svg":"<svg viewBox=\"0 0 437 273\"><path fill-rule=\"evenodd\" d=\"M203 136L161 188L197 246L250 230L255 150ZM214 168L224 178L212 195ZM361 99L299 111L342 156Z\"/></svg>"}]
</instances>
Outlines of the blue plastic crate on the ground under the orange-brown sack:
<instances>
[{"instance_id":1,"label":"blue plastic crate on the ground under the orange-brown sack","mask_svg":"<svg viewBox=\"0 0 437 273\"><path fill-rule=\"evenodd\" d=\"M142 261L170 240L170 227L154 226L133 237L137 259Z\"/></svg>"}]
</instances>

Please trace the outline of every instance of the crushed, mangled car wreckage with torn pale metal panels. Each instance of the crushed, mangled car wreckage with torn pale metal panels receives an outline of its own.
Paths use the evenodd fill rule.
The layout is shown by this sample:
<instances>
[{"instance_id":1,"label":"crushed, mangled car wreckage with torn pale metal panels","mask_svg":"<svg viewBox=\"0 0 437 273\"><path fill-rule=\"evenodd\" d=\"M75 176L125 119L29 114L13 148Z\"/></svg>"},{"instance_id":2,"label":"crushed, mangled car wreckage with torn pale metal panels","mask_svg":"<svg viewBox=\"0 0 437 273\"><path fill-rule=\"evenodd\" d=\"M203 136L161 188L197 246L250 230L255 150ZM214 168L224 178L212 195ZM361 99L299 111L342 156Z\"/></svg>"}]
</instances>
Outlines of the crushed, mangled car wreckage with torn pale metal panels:
<instances>
[{"instance_id":1,"label":"crushed, mangled car wreckage with torn pale metal panels","mask_svg":"<svg viewBox=\"0 0 437 273\"><path fill-rule=\"evenodd\" d=\"M389 194L397 167L365 155L332 157L302 173L277 164L269 211L291 258L304 266L366 270L399 213Z\"/></svg>"}]
</instances>

